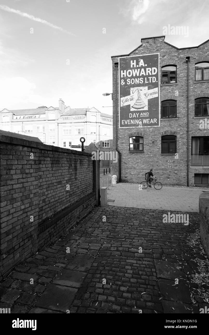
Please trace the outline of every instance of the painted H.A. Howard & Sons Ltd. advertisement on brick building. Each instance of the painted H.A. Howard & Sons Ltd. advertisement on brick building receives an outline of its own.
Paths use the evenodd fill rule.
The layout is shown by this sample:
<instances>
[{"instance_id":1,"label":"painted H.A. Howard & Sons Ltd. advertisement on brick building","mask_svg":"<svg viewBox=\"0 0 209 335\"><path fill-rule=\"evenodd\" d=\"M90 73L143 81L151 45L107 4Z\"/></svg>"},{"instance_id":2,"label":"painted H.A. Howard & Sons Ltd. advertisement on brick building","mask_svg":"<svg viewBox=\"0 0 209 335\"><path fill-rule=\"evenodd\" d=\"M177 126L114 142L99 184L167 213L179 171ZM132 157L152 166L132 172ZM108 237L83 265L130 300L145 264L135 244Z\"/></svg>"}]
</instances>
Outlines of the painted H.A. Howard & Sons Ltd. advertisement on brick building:
<instances>
[{"instance_id":1,"label":"painted H.A. Howard & Sons Ltd. advertisement on brick building","mask_svg":"<svg viewBox=\"0 0 209 335\"><path fill-rule=\"evenodd\" d=\"M159 127L159 54L119 57L119 128Z\"/></svg>"}]
</instances>

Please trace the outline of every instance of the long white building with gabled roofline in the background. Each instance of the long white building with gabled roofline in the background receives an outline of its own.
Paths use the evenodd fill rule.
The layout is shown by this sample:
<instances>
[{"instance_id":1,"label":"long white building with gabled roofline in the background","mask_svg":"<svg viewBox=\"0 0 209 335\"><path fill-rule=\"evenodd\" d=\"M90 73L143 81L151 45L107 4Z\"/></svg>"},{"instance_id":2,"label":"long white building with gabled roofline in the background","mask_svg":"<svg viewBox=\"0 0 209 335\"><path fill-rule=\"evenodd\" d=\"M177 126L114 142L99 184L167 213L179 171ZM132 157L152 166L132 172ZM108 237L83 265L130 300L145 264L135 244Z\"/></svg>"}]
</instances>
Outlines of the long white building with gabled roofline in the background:
<instances>
[{"instance_id":1,"label":"long white building with gabled roofline in the background","mask_svg":"<svg viewBox=\"0 0 209 335\"><path fill-rule=\"evenodd\" d=\"M98 147L112 147L112 116L100 113L96 108L65 107L59 99L59 107L41 106L35 109L0 112L0 129L38 137L43 143L64 148L91 142ZM76 150L80 150L76 148Z\"/></svg>"}]
</instances>

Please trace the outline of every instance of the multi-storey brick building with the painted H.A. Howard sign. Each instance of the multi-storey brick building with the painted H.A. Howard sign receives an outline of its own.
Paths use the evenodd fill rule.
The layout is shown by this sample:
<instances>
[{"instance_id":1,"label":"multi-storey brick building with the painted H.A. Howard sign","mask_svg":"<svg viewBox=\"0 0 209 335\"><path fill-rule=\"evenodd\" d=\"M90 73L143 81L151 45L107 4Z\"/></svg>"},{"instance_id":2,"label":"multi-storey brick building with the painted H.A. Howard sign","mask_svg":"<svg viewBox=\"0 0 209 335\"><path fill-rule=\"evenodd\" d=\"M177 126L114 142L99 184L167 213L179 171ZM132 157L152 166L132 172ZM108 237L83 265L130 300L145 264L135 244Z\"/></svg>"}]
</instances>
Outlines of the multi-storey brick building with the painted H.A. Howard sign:
<instances>
[{"instance_id":1,"label":"multi-storey brick building with the painted H.A. Howard sign","mask_svg":"<svg viewBox=\"0 0 209 335\"><path fill-rule=\"evenodd\" d=\"M164 185L209 186L209 40L179 49L164 39L112 56L118 177L139 183L153 167Z\"/></svg>"}]
</instances>

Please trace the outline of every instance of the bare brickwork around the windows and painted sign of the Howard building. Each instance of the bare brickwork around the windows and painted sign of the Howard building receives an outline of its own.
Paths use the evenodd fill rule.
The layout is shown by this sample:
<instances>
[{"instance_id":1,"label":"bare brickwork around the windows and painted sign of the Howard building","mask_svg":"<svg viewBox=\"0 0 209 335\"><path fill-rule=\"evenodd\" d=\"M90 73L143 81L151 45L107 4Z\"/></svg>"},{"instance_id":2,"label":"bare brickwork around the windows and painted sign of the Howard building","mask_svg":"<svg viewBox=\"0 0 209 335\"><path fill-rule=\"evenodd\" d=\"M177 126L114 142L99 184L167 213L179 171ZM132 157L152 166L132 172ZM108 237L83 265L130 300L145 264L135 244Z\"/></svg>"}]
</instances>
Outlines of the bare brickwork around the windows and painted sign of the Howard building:
<instances>
[{"instance_id":1,"label":"bare brickwork around the windows and painted sign of the Howard building","mask_svg":"<svg viewBox=\"0 0 209 335\"><path fill-rule=\"evenodd\" d=\"M154 165L154 174L166 185L187 185L187 63L186 56L190 56L189 63L189 186L194 185L194 174L197 167L191 166L191 137L208 136L208 129L200 129L202 118L195 116L195 98L209 97L209 82L195 83L195 63L209 61L209 42L198 48L177 49L164 42L164 37L143 39L142 45L127 56L159 53L159 74L161 82L161 67L164 65L177 66L177 83L160 84L160 106L162 100L177 100L177 118L160 120L160 127L131 127L119 128L119 90L116 92L115 63L118 57L112 57L113 71L113 147L122 153L121 179L123 182L139 183L144 180L145 172ZM123 55L124 56L124 55ZM119 76L117 75L117 85ZM115 124L117 98L117 125ZM129 136L137 136L140 131L144 136L144 153L129 152ZM176 134L178 159L175 155L161 154L162 134ZM154 138L154 157L152 158ZM209 167L198 169L209 173ZM200 172L201 173L201 172Z\"/></svg>"}]
</instances>

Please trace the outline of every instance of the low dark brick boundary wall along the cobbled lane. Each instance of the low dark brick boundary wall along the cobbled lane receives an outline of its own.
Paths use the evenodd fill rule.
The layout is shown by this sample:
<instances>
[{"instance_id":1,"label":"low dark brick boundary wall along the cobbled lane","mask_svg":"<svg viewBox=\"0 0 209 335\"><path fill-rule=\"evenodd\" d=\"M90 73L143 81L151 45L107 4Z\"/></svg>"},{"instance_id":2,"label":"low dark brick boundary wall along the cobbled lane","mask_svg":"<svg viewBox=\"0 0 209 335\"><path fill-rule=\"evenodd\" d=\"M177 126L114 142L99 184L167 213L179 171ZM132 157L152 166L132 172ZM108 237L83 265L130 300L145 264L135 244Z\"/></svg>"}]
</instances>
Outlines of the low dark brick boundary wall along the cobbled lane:
<instances>
[{"instance_id":1,"label":"low dark brick boundary wall along the cobbled lane","mask_svg":"<svg viewBox=\"0 0 209 335\"><path fill-rule=\"evenodd\" d=\"M86 152L1 135L0 144L1 279L98 204L99 165Z\"/></svg>"}]
</instances>

